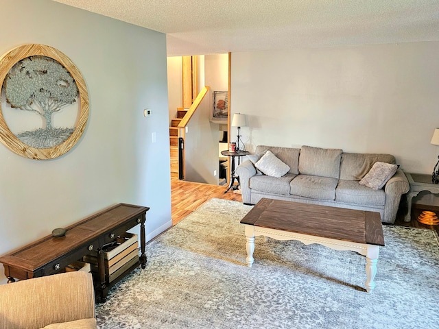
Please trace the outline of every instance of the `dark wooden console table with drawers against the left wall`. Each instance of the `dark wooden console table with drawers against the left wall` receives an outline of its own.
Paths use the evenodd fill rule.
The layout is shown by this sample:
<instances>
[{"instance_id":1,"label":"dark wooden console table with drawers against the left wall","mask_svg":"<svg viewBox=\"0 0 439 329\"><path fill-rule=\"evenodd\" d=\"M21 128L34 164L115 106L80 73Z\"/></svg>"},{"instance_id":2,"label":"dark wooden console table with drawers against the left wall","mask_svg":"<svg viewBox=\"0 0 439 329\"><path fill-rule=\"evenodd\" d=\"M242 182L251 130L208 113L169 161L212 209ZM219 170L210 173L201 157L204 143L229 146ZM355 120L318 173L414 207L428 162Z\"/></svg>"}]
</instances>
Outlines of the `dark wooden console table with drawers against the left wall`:
<instances>
[{"instance_id":1,"label":"dark wooden console table with drawers against the left wall","mask_svg":"<svg viewBox=\"0 0 439 329\"><path fill-rule=\"evenodd\" d=\"M105 302L108 288L121 280L130 271L141 264L146 266L145 255L145 220L148 207L132 204L117 204L104 209L95 215L87 217L66 228L66 234L61 237L46 236L15 250L11 254L0 257L0 263L5 268L8 283L15 278L25 280L38 276L49 276L65 271L67 265L81 260L91 251L97 251L97 282L95 291L97 300ZM141 256L139 261L127 269L112 282L106 282L104 252L102 247L130 228L141 224ZM96 280L96 278L95 278Z\"/></svg>"}]
</instances>

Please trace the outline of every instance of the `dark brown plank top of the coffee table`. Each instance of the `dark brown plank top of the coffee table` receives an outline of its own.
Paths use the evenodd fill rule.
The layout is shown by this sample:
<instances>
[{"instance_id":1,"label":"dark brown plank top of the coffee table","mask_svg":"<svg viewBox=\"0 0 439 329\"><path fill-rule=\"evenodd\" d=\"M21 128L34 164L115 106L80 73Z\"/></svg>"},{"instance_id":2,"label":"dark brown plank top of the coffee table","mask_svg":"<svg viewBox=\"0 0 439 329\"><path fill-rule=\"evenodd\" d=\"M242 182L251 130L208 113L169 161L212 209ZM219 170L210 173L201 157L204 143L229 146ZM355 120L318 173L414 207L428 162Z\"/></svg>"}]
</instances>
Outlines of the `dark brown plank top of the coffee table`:
<instances>
[{"instance_id":1,"label":"dark brown plank top of the coffee table","mask_svg":"<svg viewBox=\"0 0 439 329\"><path fill-rule=\"evenodd\" d=\"M264 198L241 223L329 239L384 245L379 212Z\"/></svg>"}]
</instances>

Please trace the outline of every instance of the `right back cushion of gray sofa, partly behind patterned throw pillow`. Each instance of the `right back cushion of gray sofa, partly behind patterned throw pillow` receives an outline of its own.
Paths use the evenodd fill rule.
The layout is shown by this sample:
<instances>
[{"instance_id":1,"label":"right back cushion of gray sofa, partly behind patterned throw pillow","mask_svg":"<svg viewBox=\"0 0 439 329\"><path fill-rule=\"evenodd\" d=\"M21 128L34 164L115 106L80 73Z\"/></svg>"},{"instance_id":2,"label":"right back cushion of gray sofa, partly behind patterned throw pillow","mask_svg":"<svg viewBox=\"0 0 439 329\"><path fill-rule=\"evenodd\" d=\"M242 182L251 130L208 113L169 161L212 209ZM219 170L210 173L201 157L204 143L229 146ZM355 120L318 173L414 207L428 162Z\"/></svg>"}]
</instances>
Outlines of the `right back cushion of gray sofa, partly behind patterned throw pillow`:
<instances>
[{"instance_id":1,"label":"right back cushion of gray sofa, partly behind patterned throw pillow","mask_svg":"<svg viewBox=\"0 0 439 329\"><path fill-rule=\"evenodd\" d=\"M343 153L340 180L361 180L375 162L396 163L390 154Z\"/></svg>"}]
</instances>

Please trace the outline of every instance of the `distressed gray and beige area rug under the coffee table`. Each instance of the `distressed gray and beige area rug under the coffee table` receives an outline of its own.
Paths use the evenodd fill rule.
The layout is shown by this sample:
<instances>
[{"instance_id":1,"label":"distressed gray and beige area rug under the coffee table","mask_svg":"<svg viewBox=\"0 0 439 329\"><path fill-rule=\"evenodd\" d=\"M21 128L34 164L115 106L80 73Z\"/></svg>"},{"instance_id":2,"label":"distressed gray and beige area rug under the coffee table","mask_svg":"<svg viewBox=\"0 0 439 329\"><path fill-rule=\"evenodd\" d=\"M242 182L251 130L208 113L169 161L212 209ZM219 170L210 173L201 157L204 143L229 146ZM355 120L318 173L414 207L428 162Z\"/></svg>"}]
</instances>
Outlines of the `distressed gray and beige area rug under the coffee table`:
<instances>
[{"instance_id":1,"label":"distressed gray and beige area rug under the coffee table","mask_svg":"<svg viewBox=\"0 0 439 329\"><path fill-rule=\"evenodd\" d=\"M97 305L99 328L439 328L436 232L384 226L366 293L355 252L259 236L247 267L251 208L211 199L147 243L146 268Z\"/></svg>"}]
</instances>

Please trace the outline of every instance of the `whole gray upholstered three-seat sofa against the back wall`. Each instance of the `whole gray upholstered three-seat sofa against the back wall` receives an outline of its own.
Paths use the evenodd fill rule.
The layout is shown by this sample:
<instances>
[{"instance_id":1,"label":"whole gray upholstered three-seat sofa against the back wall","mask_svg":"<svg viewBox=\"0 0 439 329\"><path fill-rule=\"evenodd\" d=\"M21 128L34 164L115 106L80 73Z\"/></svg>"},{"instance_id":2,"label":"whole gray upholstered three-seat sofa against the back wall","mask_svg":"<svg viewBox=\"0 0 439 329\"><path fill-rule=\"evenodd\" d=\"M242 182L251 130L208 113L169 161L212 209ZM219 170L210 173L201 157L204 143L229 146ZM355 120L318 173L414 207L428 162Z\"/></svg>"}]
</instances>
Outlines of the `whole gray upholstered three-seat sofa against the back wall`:
<instances>
[{"instance_id":1,"label":"whole gray upholstered three-seat sofa against the back wall","mask_svg":"<svg viewBox=\"0 0 439 329\"><path fill-rule=\"evenodd\" d=\"M284 170L288 169L281 177L274 177L276 173L265 170L267 162L264 170L269 174L259 170L262 162L259 160L268 150L287 165L281 166ZM401 195L409 191L409 183L401 169L389 165L396 172L390 179L387 178L382 188L371 188L367 184L365 186L364 181L370 178L373 171L370 169L377 167L374 166L375 162L387 166L395 164L395 158L390 154L345 153L342 149L309 146L298 149L260 145L255 154L239 164L235 173L239 176L244 204L257 204L261 198L268 197L376 211L380 213L382 222L394 223ZM272 165L276 166L277 164Z\"/></svg>"}]
</instances>

